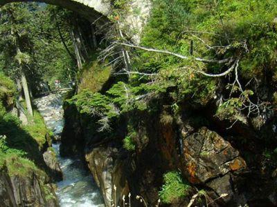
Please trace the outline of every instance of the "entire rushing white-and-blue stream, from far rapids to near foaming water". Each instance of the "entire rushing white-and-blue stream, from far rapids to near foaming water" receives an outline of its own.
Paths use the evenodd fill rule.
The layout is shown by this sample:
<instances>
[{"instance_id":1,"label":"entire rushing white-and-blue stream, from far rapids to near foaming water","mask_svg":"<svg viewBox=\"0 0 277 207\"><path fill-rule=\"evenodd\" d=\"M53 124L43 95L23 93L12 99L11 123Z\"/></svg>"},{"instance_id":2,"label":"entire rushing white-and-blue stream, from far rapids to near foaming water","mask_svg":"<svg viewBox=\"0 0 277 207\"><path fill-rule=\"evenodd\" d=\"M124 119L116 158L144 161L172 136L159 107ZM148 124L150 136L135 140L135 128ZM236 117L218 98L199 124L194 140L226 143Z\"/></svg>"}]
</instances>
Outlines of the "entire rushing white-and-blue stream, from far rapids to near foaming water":
<instances>
[{"instance_id":1,"label":"entire rushing white-and-blue stream, from far rapids to near foaming water","mask_svg":"<svg viewBox=\"0 0 277 207\"><path fill-rule=\"evenodd\" d=\"M46 126L56 137L64 126L62 94L51 94L35 100ZM61 207L103 207L102 197L93 177L78 157L61 157L60 143L53 144L64 179L57 182L57 197Z\"/></svg>"}]
</instances>

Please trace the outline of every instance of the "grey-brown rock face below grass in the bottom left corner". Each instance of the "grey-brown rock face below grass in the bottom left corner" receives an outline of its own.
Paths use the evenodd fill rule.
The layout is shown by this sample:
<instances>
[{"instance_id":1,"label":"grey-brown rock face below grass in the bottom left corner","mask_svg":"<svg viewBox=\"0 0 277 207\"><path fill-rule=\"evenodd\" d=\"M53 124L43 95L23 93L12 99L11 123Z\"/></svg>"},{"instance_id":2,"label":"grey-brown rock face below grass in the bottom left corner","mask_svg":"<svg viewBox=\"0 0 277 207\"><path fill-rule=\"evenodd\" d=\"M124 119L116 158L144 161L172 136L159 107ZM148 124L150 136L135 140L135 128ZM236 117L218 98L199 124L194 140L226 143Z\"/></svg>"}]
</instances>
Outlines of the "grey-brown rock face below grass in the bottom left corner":
<instances>
[{"instance_id":1,"label":"grey-brown rock face below grass in the bottom left corner","mask_svg":"<svg viewBox=\"0 0 277 207\"><path fill-rule=\"evenodd\" d=\"M55 186L46 184L46 177L33 172L30 176L0 172L0 206L58 206Z\"/></svg>"}]
</instances>

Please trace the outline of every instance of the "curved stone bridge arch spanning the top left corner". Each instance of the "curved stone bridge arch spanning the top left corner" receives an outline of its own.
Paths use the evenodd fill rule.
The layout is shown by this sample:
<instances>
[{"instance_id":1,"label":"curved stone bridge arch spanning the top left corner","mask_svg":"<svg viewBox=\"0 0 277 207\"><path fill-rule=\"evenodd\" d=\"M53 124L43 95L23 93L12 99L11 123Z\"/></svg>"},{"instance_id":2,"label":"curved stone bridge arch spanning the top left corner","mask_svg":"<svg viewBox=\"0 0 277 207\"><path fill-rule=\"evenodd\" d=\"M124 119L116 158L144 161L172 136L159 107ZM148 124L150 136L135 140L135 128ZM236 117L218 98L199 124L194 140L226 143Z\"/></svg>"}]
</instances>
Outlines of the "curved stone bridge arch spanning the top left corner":
<instances>
[{"instance_id":1,"label":"curved stone bridge arch spanning the top left corner","mask_svg":"<svg viewBox=\"0 0 277 207\"><path fill-rule=\"evenodd\" d=\"M0 6L12 2L44 2L72 10L81 14L87 20L93 22L98 19L101 23L106 22L107 15L111 10L111 0L0 0Z\"/></svg>"}]
</instances>

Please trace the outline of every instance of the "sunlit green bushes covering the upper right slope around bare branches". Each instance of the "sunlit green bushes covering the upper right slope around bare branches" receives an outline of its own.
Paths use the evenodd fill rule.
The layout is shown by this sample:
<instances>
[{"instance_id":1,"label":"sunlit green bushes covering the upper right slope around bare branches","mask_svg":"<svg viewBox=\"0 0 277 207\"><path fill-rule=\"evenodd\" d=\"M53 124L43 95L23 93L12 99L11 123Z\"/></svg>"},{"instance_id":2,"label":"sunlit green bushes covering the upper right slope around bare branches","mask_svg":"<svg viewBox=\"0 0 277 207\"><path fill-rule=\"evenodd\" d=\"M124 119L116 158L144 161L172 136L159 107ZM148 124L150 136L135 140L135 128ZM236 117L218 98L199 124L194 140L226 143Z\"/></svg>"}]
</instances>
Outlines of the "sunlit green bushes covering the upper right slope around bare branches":
<instances>
[{"instance_id":1,"label":"sunlit green bushes covering the upper right slope around bare branches","mask_svg":"<svg viewBox=\"0 0 277 207\"><path fill-rule=\"evenodd\" d=\"M267 12L271 10L272 12ZM229 67L218 64L199 63L193 57L206 59L224 59L240 57L239 79L247 83L255 77L260 86L267 79L267 74L273 74L272 81L277 81L276 43L277 23L276 3L266 1L210 1L210 0L159 0L152 1L152 12L147 26L144 28L141 45L161 50L169 50L185 55L188 59L179 59L171 55L161 55L153 52L136 51L133 67L141 72L157 72L158 78L154 84L177 88L177 100L189 100L206 105L213 99L219 86L218 79L197 74L197 70L208 73L220 73ZM193 51L190 44L193 41ZM190 54L190 52L193 52ZM225 80L226 86L233 83ZM222 78L224 79L224 77ZM131 79L136 86L145 77ZM230 82L229 82L230 81ZM229 82L229 83L228 83ZM169 84L166 84L169 83ZM154 85L153 84L153 85ZM132 86L132 84L130 84ZM255 91L254 84L242 86L244 93ZM273 86L273 90L276 87ZM237 88L238 89L238 88ZM232 89L226 87L226 94ZM225 91L224 91L225 92ZM224 93L223 92L223 93ZM233 91L231 106L225 103L219 109L219 114L228 118L234 116L238 103L250 99L257 94L239 96ZM228 99L228 97L226 97ZM258 97L260 99L260 97ZM236 106L232 106L232 105ZM225 110L223 110L225 108ZM225 115L223 115L225 113Z\"/></svg>"}]
</instances>

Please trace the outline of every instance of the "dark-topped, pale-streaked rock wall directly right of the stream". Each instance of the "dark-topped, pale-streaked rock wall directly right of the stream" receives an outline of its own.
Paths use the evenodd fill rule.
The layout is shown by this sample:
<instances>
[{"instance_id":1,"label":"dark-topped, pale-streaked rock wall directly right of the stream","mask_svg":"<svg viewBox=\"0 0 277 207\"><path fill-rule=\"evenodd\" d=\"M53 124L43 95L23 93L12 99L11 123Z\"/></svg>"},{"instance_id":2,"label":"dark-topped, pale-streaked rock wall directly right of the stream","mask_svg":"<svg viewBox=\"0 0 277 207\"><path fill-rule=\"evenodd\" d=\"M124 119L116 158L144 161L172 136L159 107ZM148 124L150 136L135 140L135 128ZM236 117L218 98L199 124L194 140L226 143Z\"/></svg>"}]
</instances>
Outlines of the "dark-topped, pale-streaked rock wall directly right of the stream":
<instances>
[{"instance_id":1,"label":"dark-topped, pale-streaked rock wall directly right of the stream","mask_svg":"<svg viewBox=\"0 0 277 207\"><path fill-rule=\"evenodd\" d=\"M82 116L74 106L64 105L65 127L62 132L62 155L82 155L96 181L105 206L114 204L114 186L116 203L129 193L125 177L125 160L122 159L122 141L111 141L112 133L102 136L92 124L91 117ZM123 126L120 123L120 126ZM120 126L116 129L120 131ZM119 132L116 132L117 134ZM107 141L109 140L109 141Z\"/></svg>"}]
</instances>

